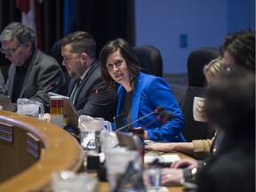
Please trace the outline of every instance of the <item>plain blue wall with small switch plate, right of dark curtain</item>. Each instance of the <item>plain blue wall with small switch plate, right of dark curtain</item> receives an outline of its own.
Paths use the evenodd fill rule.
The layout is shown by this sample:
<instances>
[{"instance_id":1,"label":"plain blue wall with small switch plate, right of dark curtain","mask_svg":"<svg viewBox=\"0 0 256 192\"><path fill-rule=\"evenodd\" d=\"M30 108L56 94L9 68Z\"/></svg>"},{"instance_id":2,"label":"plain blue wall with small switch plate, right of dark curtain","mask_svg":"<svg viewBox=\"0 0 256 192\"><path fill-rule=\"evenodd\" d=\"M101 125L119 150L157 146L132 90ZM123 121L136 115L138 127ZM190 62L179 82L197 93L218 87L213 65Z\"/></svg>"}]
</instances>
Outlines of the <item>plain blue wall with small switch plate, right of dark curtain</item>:
<instances>
[{"instance_id":1,"label":"plain blue wall with small switch plate, right of dark curtain","mask_svg":"<svg viewBox=\"0 0 256 192\"><path fill-rule=\"evenodd\" d=\"M254 15L254 0L136 0L135 42L161 51L164 74L187 74L190 52L219 48L228 33L255 28Z\"/></svg>"}]
</instances>

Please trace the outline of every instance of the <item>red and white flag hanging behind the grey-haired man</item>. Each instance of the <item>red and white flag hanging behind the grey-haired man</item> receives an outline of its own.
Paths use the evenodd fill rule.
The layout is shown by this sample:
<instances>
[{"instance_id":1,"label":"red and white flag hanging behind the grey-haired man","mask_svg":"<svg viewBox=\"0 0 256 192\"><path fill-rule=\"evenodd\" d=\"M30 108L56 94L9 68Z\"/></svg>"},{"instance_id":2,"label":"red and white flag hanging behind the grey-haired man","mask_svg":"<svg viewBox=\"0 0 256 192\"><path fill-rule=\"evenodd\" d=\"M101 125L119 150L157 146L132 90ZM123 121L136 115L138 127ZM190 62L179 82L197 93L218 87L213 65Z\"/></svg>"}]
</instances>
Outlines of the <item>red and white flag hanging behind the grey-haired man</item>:
<instances>
[{"instance_id":1,"label":"red and white flag hanging behind the grey-haired man","mask_svg":"<svg viewBox=\"0 0 256 192\"><path fill-rule=\"evenodd\" d=\"M16 6L22 12L21 22L36 33L36 47L43 50L43 34L38 0L16 0Z\"/></svg>"}]
</instances>

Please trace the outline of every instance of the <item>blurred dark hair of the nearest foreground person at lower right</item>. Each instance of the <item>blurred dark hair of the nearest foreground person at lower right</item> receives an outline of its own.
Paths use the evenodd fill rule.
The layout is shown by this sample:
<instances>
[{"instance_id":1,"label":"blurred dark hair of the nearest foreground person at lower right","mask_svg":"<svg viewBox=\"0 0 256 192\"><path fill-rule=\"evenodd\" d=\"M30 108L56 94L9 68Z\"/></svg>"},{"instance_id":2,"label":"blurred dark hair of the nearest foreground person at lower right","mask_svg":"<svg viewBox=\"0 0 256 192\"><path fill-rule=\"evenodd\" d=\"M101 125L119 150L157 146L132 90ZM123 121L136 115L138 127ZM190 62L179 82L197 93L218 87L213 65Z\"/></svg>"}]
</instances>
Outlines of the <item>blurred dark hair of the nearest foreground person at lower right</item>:
<instances>
[{"instance_id":1,"label":"blurred dark hair of the nearest foreground person at lower right","mask_svg":"<svg viewBox=\"0 0 256 192\"><path fill-rule=\"evenodd\" d=\"M220 76L206 93L206 114L228 134L255 134L255 74L247 69Z\"/></svg>"}]
</instances>

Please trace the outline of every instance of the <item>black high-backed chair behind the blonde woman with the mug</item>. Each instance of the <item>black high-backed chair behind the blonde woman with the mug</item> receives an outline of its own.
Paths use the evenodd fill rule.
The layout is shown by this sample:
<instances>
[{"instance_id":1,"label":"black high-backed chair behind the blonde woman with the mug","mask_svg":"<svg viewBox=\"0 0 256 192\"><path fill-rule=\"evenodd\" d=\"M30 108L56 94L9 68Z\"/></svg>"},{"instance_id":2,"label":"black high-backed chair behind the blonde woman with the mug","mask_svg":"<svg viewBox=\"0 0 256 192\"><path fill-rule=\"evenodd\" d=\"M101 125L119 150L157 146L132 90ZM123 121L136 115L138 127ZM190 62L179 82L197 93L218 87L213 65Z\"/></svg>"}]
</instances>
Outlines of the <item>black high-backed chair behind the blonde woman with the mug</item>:
<instances>
[{"instance_id":1,"label":"black high-backed chair behind the blonde woman with the mug","mask_svg":"<svg viewBox=\"0 0 256 192\"><path fill-rule=\"evenodd\" d=\"M180 100L180 108L186 121L182 133L188 142L212 139L214 130L207 123L194 120L193 101L194 97L204 97L205 85L207 84L204 66L219 56L220 51L212 47L199 48L188 55L188 89L183 99Z\"/></svg>"}]
</instances>

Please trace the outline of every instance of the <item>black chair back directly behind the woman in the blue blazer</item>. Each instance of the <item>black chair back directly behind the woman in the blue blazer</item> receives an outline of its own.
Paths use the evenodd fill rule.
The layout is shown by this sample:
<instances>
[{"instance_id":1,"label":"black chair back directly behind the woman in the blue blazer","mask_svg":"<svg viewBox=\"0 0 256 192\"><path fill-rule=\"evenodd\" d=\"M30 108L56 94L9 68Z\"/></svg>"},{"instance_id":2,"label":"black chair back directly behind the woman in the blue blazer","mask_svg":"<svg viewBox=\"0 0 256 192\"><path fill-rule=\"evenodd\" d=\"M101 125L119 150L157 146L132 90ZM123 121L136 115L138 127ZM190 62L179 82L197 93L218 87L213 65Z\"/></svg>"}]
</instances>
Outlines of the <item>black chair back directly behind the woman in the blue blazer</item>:
<instances>
[{"instance_id":1,"label":"black chair back directly behind the woman in the blue blazer","mask_svg":"<svg viewBox=\"0 0 256 192\"><path fill-rule=\"evenodd\" d=\"M140 60L141 72L154 76L163 76L163 60L161 52L152 45L138 45L133 47Z\"/></svg>"}]
</instances>

